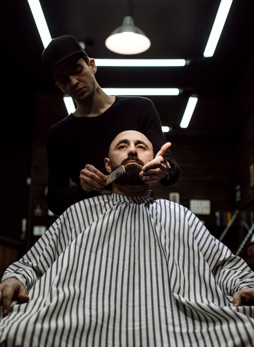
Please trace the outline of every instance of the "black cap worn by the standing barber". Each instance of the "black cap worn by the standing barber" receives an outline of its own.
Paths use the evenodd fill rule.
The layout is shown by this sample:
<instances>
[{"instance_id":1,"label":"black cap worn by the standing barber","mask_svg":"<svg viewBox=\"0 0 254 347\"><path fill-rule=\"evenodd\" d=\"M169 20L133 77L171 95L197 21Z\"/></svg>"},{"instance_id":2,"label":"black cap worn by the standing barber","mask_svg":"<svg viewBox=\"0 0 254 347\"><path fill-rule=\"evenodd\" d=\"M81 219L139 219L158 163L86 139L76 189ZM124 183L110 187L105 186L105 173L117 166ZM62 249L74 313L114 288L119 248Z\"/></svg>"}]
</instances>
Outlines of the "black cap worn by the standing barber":
<instances>
[{"instance_id":1,"label":"black cap worn by the standing barber","mask_svg":"<svg viewBox=\"0 0 254 347\"><path fill-rule=\"evenodd\" d=\"M42 52L42 61L46 67L45 76L52 76L52 68L60 61L77 54L77 56L87 56L82 46L75 37L63 35L56 37Z\"/></svg>"}]
</instances>

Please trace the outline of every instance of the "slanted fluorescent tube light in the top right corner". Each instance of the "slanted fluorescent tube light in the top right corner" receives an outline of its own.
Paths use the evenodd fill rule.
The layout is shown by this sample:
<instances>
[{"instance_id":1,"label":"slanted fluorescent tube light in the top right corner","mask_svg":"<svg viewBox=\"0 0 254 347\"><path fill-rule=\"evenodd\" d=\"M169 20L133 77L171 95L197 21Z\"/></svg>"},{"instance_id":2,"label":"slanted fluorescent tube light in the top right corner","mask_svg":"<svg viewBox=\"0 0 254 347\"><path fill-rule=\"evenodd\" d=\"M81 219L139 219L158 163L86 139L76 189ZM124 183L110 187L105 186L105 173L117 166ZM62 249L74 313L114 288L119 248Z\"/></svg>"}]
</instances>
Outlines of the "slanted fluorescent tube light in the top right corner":
<instances>
[{"instance_id":1,"label":"slanted fluorescent tube light in the top right corner","mask_svg":"<svg viewBox=\"0 0 254 347\"><path fill-rule=\"evenodd\" d=\"M220 6L215 17L213 27L204 50L204 57L212 57L219 41L223 26L226 22L228 12L233 0L221 0Z\"/></svg>"}]
</instances>

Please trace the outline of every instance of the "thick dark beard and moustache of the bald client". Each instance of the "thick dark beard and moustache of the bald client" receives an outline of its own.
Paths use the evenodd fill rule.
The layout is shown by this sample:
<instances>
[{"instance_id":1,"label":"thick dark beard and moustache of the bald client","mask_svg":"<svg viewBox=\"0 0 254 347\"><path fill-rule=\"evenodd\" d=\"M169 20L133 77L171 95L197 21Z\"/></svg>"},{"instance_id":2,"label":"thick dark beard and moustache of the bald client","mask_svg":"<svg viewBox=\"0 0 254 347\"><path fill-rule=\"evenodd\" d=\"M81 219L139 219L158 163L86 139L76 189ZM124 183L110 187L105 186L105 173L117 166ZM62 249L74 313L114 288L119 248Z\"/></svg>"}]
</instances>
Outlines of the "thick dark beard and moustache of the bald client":
<instances>
[{"instance_id":1,"label":"thick dark beard and moustache of the bald client","mask_svg":"<svg viewBox=\"0 0 254 347\"><path fill-rule=\"evenodd\" d=\"M135 160L138 164L128 164L125 167L125 174L118 177L114 183L129 185L129 186L143 186L145 185L144 181L141 180L139 176L139 172L142 171L142 167L144 163L142 160L138 159L136 156L129 156L127 159L123 160L120 165L116 165L112 160L111 161L111 169L112 171L116 170L119 166L125 165L128 161Z\"/></svg>"}]
</instances>

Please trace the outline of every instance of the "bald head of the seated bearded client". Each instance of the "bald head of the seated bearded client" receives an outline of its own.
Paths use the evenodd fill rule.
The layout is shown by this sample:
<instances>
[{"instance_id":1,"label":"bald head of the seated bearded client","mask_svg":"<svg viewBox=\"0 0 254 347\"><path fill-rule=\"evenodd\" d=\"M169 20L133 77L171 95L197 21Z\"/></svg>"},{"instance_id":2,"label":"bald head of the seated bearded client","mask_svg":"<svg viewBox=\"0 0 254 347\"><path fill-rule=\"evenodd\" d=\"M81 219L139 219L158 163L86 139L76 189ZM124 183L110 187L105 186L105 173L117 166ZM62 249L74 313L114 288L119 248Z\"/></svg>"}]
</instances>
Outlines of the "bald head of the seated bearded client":
<instances>
[{"instance_id":1,"label":"bald head of the seated bearded client","mask_svg":"<svg viewBox=\"0 0 254 347\"><path fill-rule=\"evenodd\" d=\"M144 184L139 177L144 164L153 160L153 148L151 142L143 134L134 130L120 133L110 146L109 157L105 159L108 172L116 170L124 165L126 175L121 176L115 183Z\"/></svg>"}]
</instances>

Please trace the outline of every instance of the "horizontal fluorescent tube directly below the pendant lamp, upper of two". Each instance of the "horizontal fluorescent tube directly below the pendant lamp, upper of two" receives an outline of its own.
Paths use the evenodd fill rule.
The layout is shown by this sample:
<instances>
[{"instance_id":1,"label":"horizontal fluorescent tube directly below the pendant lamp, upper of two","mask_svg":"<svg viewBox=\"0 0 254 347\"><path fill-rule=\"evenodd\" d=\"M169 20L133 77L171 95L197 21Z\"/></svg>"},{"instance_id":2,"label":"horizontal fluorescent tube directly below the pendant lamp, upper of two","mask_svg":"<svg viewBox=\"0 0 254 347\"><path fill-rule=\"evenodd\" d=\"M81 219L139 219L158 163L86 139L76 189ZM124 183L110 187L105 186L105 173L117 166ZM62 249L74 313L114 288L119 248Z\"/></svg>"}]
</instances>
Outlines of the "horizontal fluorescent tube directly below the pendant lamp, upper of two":
<instances>
[{"instance_id":1,"label":"horizontal fluorescent tube directly below the pendant lamp, upper of two","mask_svg":"<svg viewBox=\"0 0 254 347\"><path fill-rule=\"evenodd\" d=\"M185 59L95 59L97 66L185 66Z\"/></svg>"}]
</instances>

